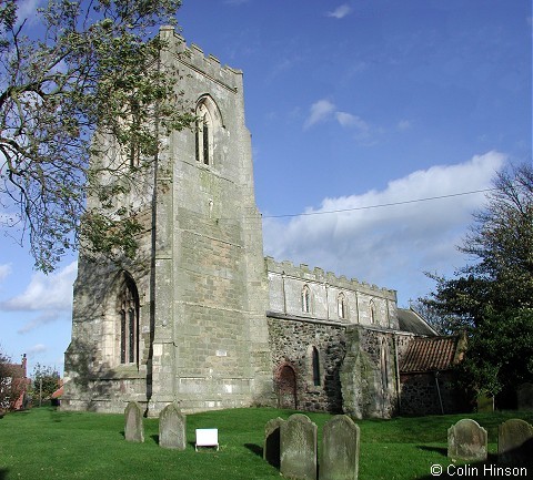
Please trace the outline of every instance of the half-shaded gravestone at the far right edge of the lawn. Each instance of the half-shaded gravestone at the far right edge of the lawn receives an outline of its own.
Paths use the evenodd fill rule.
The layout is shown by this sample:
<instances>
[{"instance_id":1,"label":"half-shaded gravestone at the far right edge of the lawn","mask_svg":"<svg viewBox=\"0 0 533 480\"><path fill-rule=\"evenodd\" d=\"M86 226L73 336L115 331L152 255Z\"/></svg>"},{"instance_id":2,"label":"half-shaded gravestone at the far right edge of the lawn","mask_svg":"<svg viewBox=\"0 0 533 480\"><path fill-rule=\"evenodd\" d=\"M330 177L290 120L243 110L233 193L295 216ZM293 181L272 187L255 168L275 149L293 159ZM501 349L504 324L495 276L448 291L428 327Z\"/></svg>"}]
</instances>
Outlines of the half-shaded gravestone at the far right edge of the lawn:
<instances>
[{"instance_id":1,"label":"half-shaded gravestone at the far right edge of the lawn","mask_svg":"<svg viewBox=\"0 0 533 480\"><path fill-rule=\"evenodd\" d=\"M512 466L532 464L533 427L525 420L513 418L497 430L497 461Z\"/></svg>"}]
</instances>

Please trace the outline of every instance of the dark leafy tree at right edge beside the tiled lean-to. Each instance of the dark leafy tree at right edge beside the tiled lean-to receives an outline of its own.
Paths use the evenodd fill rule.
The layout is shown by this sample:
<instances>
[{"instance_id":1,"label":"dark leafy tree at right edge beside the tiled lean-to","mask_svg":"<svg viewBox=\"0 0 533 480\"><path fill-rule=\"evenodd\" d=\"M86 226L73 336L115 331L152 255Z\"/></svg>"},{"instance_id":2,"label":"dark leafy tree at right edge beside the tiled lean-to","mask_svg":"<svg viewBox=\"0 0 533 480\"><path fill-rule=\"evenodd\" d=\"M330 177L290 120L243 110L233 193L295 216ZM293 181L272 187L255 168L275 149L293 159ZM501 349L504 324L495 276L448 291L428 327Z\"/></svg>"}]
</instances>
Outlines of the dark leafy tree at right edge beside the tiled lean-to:
<instances>
[{"instance_id":1,"label":"dark leafy tree at right edge beside the tiled lean-to","mask_svg":"<svg viewBox=\"0 0 533 480\"><path fill-rule=\"evenodd\" d=\"M533 380L533 167L499 173L484 210L460 251L470 263L438 277L421 302L465 329L463 378L509 406L515 388Z\"/></svg>"}]
</instances>

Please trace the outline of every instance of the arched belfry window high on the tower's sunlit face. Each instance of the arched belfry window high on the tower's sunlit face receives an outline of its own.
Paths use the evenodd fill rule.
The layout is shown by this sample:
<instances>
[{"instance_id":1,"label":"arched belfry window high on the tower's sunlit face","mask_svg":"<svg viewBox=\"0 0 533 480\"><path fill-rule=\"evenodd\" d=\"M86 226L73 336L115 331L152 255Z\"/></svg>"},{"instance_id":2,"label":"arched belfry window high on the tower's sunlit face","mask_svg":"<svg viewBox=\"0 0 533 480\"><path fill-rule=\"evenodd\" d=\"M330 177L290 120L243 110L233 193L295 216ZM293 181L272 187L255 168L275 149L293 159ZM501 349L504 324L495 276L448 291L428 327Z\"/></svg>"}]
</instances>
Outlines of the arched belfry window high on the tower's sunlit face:
<instances>
[{"instance_id":1,"label":"arched belfry window high on the tower's sunlit face","mask_svg":"<svg viewBox=\"0 0 533 480\"><path fill-rule=\"evenodd\" d=\"M213 164L214 139L221 125L221 115L217 103L209 96L202 96L195 110L195 157L197 162L204 165Z\"/></svg>"}]
</instances>

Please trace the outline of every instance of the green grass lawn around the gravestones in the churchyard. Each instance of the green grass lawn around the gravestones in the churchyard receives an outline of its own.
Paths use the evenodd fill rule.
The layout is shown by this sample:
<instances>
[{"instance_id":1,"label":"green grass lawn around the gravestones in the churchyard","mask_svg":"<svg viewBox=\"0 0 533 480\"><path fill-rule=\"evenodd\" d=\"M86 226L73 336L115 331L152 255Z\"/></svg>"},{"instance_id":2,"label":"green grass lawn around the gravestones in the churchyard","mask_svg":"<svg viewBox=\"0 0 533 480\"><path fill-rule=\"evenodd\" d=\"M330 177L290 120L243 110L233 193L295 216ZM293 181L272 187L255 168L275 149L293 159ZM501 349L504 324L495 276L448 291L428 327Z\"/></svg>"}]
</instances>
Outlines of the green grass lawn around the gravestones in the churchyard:
<instances>
[{"instance_id":1,"label":"green grass lawn around the gravestones in the churchyard","mask_svg":"<svg viewBox=\"0 0 533 480\"><path fill-rule=\"evenodd\" d=\"M158 419L144 419L144 443L130 443L123 437L122 415L62 412L44 407L9 413L0 419L0 480L279 479L280 472L262 459L264 425L271 418L288 418L291 413L250 408L189 415L185 451L158 446ZM306 415L319 427L320 445L322 427L331 417ZM489 431L491 453L497 448L501 422L522 418L533 423L533 412L360 420L360 480L438 478L430 474L430 468L438 463L446 470L447 428L461 418L473 418ZM195 428L218 428L220 451L195 452ZM473 478L466 471L455 469L453 473L439 478ZM533 471L529 473L533 478Z\"/></svg>"}]
</instances>

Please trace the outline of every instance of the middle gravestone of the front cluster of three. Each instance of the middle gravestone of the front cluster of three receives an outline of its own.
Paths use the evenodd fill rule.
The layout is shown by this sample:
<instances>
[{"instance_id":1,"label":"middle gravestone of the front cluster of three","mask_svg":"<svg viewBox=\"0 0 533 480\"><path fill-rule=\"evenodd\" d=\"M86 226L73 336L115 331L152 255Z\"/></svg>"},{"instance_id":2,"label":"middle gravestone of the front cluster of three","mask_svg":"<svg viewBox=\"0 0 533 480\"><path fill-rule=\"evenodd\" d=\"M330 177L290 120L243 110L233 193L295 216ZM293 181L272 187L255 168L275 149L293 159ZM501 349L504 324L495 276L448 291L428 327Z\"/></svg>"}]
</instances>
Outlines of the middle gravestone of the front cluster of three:
<instances>
[{"instance_id":1,"label":"middle gravestone of the front cluster of three","mask_svg":"<svg viewBox=\"0 0 533 480\"><path fill-rule=\"evenodd\" d=\"M316 425L303 413L281 423L280 472L295 480L316 480Z\"/></svg>"}]
</instances>

